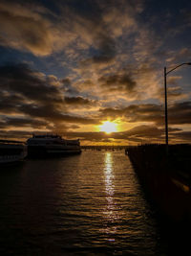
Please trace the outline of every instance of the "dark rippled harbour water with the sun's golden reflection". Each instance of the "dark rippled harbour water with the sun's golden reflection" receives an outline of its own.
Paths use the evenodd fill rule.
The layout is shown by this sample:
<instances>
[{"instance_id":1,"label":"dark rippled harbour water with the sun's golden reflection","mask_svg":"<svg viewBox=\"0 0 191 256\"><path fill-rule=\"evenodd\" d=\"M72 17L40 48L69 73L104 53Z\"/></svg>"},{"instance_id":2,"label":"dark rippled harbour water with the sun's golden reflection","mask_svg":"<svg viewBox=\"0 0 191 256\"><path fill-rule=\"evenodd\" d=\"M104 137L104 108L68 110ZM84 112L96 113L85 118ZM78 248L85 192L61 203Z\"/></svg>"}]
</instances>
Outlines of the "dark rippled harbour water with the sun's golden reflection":
<instances>
[{"instance_id":1,"label":"dark rippled harbour water with the sun's golden reflection","mask_svg":"<svg viewBox=\"0 0 191 256\"><path fill-rule=\"evenodd\" d=\"M124 151L1 169L0 255L167 255Z\"/></svg>"}]
</instances>

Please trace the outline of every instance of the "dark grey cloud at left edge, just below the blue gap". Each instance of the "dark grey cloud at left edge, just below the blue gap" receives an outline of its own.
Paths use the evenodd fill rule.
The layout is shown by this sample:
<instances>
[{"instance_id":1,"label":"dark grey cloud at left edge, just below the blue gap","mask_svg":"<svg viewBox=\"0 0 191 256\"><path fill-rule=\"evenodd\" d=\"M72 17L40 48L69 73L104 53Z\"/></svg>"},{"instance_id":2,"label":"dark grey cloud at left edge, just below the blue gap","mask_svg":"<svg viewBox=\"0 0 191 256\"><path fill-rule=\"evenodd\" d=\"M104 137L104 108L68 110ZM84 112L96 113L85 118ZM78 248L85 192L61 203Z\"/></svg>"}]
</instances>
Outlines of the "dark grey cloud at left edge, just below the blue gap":
<instances>
[{"instance_id":1,"label":"dark grey cloud at left edge, just below the blue gap","mask_svg":"<svg viewBox=\"0 0 191 256\"><path fill-rule=\"evenodd\" d=\"M47 84L46 78L41 73L32 71L26 64L0 66L0 88L11 93L19 93L39 103L63 103L59 89Z\"/></svg>"}]
</instances>

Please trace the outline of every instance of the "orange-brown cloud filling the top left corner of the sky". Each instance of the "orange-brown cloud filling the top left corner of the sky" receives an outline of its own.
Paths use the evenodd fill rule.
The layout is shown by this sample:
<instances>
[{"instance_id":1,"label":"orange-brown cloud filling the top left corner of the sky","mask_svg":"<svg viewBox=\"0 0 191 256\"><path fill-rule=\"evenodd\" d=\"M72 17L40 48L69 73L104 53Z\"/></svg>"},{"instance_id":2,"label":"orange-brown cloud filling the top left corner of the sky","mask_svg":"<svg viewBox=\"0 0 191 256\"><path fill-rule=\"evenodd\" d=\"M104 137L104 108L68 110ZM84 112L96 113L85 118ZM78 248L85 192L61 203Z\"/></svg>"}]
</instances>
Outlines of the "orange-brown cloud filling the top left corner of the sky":
<instances>
[{"instance_id":1,"label":"orange-brown cloud filling the top left corner of the sky","mask_svg":"<svg viewBox=\"0 0 191 256\"><path fill-rule=\"evenodd\" d=\"M113 51L111 47L108 50L110 36L101 32L96 20L83 14L74 12L70 3L65 3L64 8L60 6L60 15L57 15L35 1L1 1L0 45L35 56L48 56L74 41L77 47L87 48L96 40L100 59L104 50L108 51L104 53L105 58L109 58Z\"/></svg>"}]
</instances>

